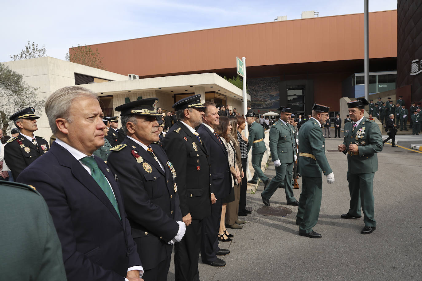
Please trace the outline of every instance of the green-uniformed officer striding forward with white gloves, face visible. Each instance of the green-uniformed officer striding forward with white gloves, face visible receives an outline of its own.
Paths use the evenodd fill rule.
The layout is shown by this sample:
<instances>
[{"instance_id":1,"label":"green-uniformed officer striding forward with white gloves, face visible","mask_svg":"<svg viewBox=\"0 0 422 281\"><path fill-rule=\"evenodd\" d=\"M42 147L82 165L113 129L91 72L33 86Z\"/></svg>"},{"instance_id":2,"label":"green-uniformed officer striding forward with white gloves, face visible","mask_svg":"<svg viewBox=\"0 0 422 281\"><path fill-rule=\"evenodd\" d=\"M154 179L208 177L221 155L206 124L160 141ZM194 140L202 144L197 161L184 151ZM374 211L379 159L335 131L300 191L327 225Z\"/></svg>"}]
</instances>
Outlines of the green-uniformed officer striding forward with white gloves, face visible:
<instances>
[{"instance_id":1,"label":"green-uniformed officer striding forward with white gloves, face visible","mask_svg":"<svg viewBox=\"0 0 422 281\"><path fill-rule=\"evenodd\" d=\"M276 166L276 176L271 179L268 186L261 193L262 202L270 206L268 200L284 184L286 192L287 205L299 206L299 202L293 195L292 173L293 165L296 161L295 147L295 129L290 122L292 109L289 107L280 107L280 119L271 126L270 129L270 150L271 158Z\"/></svg>"}]
</instances>

